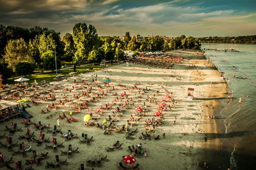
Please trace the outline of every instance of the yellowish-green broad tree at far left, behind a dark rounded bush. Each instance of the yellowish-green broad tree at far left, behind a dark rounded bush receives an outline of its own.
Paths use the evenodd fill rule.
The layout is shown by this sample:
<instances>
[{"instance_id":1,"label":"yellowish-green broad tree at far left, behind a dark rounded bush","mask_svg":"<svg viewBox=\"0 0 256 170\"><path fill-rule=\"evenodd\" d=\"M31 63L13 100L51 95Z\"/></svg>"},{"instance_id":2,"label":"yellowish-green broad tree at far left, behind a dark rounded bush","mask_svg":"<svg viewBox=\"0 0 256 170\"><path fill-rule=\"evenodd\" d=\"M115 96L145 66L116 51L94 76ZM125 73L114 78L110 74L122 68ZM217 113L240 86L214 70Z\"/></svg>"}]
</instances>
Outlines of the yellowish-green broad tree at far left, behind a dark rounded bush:
<instances>
[{"instance_id":1,"label":"yellowish-green broad tree at far left, behind a dark rounded bush","mask_svg":"<svg viewBox=\"0 0 256 170\"><path fill-rule=\"evenodd\" d=\"M28 61L34 63L33 58L29 56L28 46L23 38L18 40L9 40L5 47L4 61L8 63L8 67L15 72L15 65L20 61Z\"/></svg>"}]
</instances>

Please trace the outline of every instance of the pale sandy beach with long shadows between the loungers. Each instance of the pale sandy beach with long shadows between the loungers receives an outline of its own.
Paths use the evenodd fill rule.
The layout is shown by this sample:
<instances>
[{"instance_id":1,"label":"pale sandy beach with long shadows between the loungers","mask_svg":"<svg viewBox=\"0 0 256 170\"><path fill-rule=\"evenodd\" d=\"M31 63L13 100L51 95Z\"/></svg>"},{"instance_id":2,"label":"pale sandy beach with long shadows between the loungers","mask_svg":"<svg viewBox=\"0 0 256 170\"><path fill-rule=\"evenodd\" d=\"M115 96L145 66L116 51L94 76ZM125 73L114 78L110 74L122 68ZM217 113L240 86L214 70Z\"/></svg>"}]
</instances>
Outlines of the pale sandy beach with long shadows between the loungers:
<instances>
[{"instance_id":1,"label":"pale sandy beach with long shadows between the loungers","mask_svg":"<svg viewBox=\"0 0 256 170\"><path fill-rule=\"evenodd\" d=\"M214 157L212 150L218 150L220 148L218 138L214 137L218 133L218 128L216 127L215 120L210 119L209 116L214 115L214 111L220 105L221 98L226 97L226 83L220 79L218 70L216 70L212 63L204 59L204 54L201 52L196 54L196 52L178 51L172 52L172 54L184 57L184 62L175 64L172 69L138 65L131 61L129 62L129 66L125 66L125 63L122 63L95 72L99 81L96 84L92 82L92 78L95 79L95 77L92 77L92 72L89 72L84 74L84 77L77 75L76 77L69 77L67 81L60 81L45 86L45 88L39 88L45 90L54 89L58 86L60 89L56 88L51 92L51 95L56 98L54 102L60 102L60 100L65 102L64 95L66 96L65 98L72 102L70 105L59 105L58 109L50 109L50 112L45 114L42 114L41 110L43 109L45 111L47 105L52 104L52 101L41 100L43 97L48 97L49 94L35 99L36 102L40 102L38 105L33 105L29 102L31 107L26 108L26 111L33 115L31 121L35 123L41 121L43 125L49 123L50 129L52 130L53 126L57 125L56 119L58 115L62 115L64 111L68 116L71 106L76 105L77 101L74 102L74 100L78 98L74 96L81 97L81 91L88 90L88 88L83 86L83 82L81 81L83 78L88 79L86 83L91 84L92 91L90 92L91 97L87 98L88 100L92 100L95 95L95 100L89 102L88 108L81 109L79 113L76 113L75 109L72 108L74 112L72 116L78 118L78 121L67 123L65 119L60 120L60 127L58 128L61 128L63 133L71 130L73 134L78 135L79 139L82 139L82 133L87 134L88 137L93 136L93 141L89 145L79 144L79 139L67 140L58 133L52 135L47 130L43 130L45 137L49 137L50 140L52 140L52 137L56 137L58 143L63 142L64 148L58 148L57 151L52 151L51 149L45 148L45 144L36 146L36 143L33 143L33 141L19 140L19 135L26 133L26 128L22 124L21 118L12 120L17 123L18 127L22 127L23 130L23 132L15 132L13 143L24 141L26 146L31 146L39 154L49 152L48 157L42 160L41 165L33 164L34 169L45 169L46 161L54 162L55 155L60 155L60 160L67 158L68 164L61 166L60 169L79 169L80 164L84 164L86 169L92 169L92 167L86 164L86 161L105 157L106 155L108 155L108 161L102 161L99 167L95 166L94 169L119 169L118 163L122 160L122 156L131 154L128 146L136 146L137 144L141 144L144 150L147 151L147 157L136 157L136 163L140 164L140 169L196 169L197 159L200 160L200 167L198 169L204 166L205 161L209 169L216 169L218 165L212 159ZM105 72L106 70L108 72ZM111 80L111 86L104 86L107 77ZM77 81L77 84L74 84L74 80ZM136 83L137 88L132 88L134 87L134 83ZM118 84L122 84L122 86L118 86ZM113 86L115 89L112 88ZM66 88L68 88L68 91L65 90ZM194 100L188 100L188 88L195 89L193 93ZM143 91L142 89L147 90ZM97 93L102 94L102 91L104 91L104 95L98 98ZM154 132L155 137L160 135L160 140L153 138L151 140L139 139L141 132L147 132L143 126L145 120L154 117L153 114L157 112L157 107L161 105L161 100L164 99L166 91L170 92L170 96L174 98L174 101L166 102L172 109L163 111L164 124L157 126ZM133 140L125 139L127 133L113 132L109 135L104 135L103 130L96 126L84 127L84 115L92 112L93 118L97 118L99 112L96 110L100 109L100 107L105 107L109 102L113 107L109 110L103 109L103 115L100 115L100 118L95 120L102 125L104 118L108 118L116 110L118 104L121 105L124 103L125 98L120 97L124 92L129 96L130 104L127 107L120 107L124 112L120 113L122 117L115 124L125 125L125 122L130 120L131 115L133 115L137 121L131 123L136 123L136 126L132 126L129 132L138 128L138 132L132 135L134 137ZM113 93L116 93L116 96L119 97L118 100L115 100L116 96ZM154 102L148 102L147 98L154 98ZM146 105L145 116L138 120L135 107L143 107L144 102ZM47 118L51 114L52 117ZM0 124L1 135L4 133L8 135L8 132L5 130L6 125L10 126L10 121ZM38 139L40 130L37 130L33 125L30 125L29 129L31 132L35 132L35 138ZM163 133L166 134L165 139L163 139ZM5 143L5 140L4 137L0 139L1 143ZM121 148L115 149L114 151L106 151L116 141L122 143ZM52 143L47 144L51 145ZM67 151L68 144L72 144L73 149L78 147L79 153L61 155L60 150ZM6 159L11 157L12 151L3 147L0 149ZM19 147L15 147L13 150L19 150ZM22 160L22 164L24 165L24 160L31 156L32 153L27 153L25 158L15 155L13 156L13 160L15 162ZM14 163L10 164L12 167L14 165ZM3 167L3 169L6 168Z\"/></svg>"}]
</instances>

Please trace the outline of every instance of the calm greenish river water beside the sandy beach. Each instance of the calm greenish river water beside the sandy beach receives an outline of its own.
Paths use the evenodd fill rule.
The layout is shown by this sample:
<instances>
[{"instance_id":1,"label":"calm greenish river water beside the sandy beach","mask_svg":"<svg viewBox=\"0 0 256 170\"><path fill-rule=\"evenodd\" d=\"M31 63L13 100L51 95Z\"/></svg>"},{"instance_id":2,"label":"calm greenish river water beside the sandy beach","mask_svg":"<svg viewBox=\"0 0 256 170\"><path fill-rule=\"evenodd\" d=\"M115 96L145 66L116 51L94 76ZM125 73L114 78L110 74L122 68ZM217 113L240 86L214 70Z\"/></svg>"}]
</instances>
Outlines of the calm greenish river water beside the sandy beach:
<instances>
[{"instance_id":1,"label":"calm greenish river water beside the sandy beach","mask_svg":"<svg viewBox=\"0 0 256 170\"><path fill-rule=\"evenodd\" d=\"M206 50L227 77L230 99L221 101L216 114L225 167L256 169L256 45L202 43L201 49L233 49L239 52ZM239 102L239 98L242 102ZM222 169L222 168L221 168Z\"/></svg>"}]
</instances>

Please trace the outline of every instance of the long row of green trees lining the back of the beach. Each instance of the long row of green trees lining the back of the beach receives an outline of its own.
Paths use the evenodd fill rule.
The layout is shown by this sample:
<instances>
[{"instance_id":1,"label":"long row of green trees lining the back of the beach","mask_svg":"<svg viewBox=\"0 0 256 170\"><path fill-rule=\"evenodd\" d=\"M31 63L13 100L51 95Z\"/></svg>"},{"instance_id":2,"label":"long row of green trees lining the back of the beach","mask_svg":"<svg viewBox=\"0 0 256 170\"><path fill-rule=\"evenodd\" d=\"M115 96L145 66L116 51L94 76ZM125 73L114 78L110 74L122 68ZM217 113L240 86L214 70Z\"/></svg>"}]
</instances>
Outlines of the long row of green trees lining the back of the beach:
<instances>
[{"instance_id":1,"label":"long row of green trees lining the back of the beach","mask_svg":"<svg viewBox=\"0 0 256 170\"><path fill-rule=\"evenodd\" d=\"M168 51L175 49L199 50L200 42L192 36L175 38L165 36L99 36L97 29L86 23L74 25L71 33L61 33L47 27L23 28L0 25L0 74L10 72L28 75L34 68L45 70L61 68L61 61L76 66L100 63L102 59L124 59L124 50L138 52Z\"/></svg>"}]
</instances>

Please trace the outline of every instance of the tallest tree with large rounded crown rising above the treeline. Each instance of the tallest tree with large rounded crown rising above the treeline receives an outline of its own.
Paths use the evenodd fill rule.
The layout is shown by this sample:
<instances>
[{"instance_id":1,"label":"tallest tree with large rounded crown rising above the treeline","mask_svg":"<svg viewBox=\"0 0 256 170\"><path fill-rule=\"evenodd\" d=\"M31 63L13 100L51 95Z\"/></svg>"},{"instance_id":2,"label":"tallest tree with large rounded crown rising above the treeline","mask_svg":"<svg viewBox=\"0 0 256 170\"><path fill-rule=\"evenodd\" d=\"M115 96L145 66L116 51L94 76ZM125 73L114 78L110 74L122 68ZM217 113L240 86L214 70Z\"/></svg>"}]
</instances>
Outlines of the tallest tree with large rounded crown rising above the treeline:
<instances>
[{"instance_id":1,"label":"tallest tree with large rounded crown rising above the treeline","mask_svg":"<svg viewBox=\"0 0 256 170\"><path fill-rule=\"evenodd\" d=\"M87 26L86 23L77 23L73 27L73 40L76 47L76 53L73 58L74 71L76 65L88 59L89 52L95 45L98 45L98 33L94 26Z\"/></svg>"}]
</instances>

